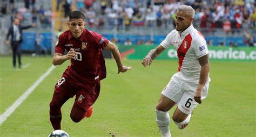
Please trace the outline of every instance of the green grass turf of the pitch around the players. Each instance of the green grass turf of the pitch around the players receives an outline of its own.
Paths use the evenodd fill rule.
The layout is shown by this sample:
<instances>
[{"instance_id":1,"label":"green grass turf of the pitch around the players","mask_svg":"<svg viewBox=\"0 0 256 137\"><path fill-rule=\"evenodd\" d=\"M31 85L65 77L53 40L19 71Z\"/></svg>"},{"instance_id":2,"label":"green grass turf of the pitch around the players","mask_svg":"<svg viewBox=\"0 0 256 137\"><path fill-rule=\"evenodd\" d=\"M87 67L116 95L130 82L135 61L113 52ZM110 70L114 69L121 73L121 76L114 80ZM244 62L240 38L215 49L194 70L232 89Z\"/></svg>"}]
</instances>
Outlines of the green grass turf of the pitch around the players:
<instances>
[{"instance_id":1,"label":"green grass turf of the pitch around the players","mask_svg":"<svg viewBox=\"0 0 256 137\"><path fill-rule=\"evenodd\" d=\"M0 114L51 66L51 57L22 58L28 68L13 69L11 57L0 57ZM176 73L177 61L156 60L144 68L140 60L124 60L132 70L117 74L106 60L107 78L93 105L91 118L74 123L69 117L74 99L62 107L62 129L73 136L160 136L154 107L161 90ZM0 136L48 136L49 103L53 87L69 62L57 66L0 125ZM180 130L171 122L172 136L256 136L255 62L211 62L210 89L194 110L190 124ZM172 116L173 109L170 111Z\"/></svg>"}]
</instances>

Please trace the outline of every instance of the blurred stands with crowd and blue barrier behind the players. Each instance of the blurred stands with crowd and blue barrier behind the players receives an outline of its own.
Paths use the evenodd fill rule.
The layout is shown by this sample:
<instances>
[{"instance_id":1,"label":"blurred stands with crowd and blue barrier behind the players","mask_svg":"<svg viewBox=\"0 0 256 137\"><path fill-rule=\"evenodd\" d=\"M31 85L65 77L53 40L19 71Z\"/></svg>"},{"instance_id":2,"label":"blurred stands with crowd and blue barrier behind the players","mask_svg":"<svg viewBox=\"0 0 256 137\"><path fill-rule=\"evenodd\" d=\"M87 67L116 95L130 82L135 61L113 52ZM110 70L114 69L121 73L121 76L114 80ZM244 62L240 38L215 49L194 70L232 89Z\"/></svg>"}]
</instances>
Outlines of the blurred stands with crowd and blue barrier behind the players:
<instances>
[{"instance_id":1,"label":"blurred stands with crowd and blue barrier behind the players","mask_svg":"<svg viewBox=\"0 0 256 137\"><path fill-rule=\"evenodd\" d=\"M118 45L158 45L174 29L174 13L181 4L196 10L193 25L204 34L208 46L255 47L255 2L253 0L3 0L0 2L0 55L11 54L4 44L12 18L22 25L36 23L23 32L23 53L52 54L55 41L68 30L70 11L86 15L86 28ZM38 52L38 51L37 51Z\"/></svg>"}]
</instances>

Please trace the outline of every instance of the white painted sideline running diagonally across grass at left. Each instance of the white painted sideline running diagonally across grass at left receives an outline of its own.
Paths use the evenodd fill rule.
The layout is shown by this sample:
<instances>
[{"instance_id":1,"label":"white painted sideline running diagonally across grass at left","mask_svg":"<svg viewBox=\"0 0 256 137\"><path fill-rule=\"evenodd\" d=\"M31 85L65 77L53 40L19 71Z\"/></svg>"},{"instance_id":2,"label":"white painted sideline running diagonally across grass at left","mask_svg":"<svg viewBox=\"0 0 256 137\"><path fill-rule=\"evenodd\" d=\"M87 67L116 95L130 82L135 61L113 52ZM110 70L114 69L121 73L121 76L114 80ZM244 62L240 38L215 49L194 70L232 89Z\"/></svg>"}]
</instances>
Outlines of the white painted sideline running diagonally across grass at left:
<instances>
[{"instance_id":1,"label":"white painted sideline running diagonally across grass at left","mask_svg":"<svg viewBox=\"0 0 256 137\"><path fill-rule=\"evenodd\" d=\"M3 114L0 115L0 125L14 112L19 105L30 95L30 93L36 89L36 87L48 76L55 66L51 66L45 74L38 78L38 80L33 83L28 90L26 90L21 97L19 97L14 104L12 104Z\"/></svg>"}]
</instances>

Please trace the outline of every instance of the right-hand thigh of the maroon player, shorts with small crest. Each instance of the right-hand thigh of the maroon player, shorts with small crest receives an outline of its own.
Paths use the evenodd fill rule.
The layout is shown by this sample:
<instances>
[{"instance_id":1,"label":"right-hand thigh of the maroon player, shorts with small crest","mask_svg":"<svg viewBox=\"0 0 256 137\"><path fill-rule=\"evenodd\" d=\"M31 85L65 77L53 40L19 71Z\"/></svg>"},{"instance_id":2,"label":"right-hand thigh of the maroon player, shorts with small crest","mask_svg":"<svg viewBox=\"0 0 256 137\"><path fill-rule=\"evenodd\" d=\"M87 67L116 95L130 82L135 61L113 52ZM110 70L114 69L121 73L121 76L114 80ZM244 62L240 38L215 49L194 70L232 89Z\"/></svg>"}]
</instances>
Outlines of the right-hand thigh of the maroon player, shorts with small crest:
<instances>
[{"instance_id":1,"label":"right-hand thigh of the maroon player, shorts with small crest","mask_svg":"<svg viewBox=\"0 0 256 137\"><path fill-rule=\"evenodd\" d=\"M86 85L86 88L77 91L75 104L87 111L87 109L96 102L99 91L100 82Z\"/></svg>"}]
</instances>

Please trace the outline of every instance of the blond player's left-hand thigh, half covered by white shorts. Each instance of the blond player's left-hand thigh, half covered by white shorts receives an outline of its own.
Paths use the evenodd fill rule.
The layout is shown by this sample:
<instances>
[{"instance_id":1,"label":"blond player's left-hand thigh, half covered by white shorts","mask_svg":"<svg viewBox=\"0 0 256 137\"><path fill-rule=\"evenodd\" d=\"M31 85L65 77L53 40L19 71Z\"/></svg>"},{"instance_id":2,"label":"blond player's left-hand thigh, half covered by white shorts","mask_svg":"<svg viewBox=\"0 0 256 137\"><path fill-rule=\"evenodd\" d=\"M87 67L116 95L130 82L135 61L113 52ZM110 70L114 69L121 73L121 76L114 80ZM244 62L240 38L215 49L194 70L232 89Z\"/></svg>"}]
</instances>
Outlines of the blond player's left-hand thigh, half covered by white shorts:
<instances>
[{"instance_id":1,"label":"blond player's left-hand thigh, half covered by white shorts","mask_svg":"<svg viewBox=\"0 0 256 137\"><path fill-rule=\"evenodd\" d=\"M161 92L157 109L160 111L169 111L175 104L179 102L183 96L182 81L174 74L170 82L165 86Z\"/></svg>"}]
</instances>

